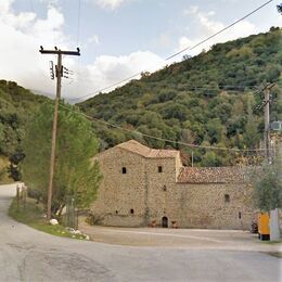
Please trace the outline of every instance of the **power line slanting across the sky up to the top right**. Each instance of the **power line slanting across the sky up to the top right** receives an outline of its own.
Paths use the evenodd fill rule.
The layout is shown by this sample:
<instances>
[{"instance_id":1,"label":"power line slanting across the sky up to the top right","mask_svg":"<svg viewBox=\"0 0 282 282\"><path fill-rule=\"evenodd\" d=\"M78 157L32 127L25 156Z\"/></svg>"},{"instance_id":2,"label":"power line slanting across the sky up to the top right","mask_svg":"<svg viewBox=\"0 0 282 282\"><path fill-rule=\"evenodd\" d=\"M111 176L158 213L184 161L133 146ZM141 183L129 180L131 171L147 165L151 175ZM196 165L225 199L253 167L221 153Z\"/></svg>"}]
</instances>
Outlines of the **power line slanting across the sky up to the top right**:
<instances>
[{"instance_id":1,"label":"power line slanting across the sky up to the top right","mask_svg":"<svg viewBox=\"0 0 282 282\"><path fill-rule=\"evenodd\" d=\"M273 1L273 0L269 0L269 1L265 2L264 4L259 5L259 7L256 8L255 10L253 10L252 12L247 13L246 15L244 15L243 17L239 18L238 21L235 21L235 22L229 24L228 26L223 27L222 29L218 30L218 31L215 33L214 35L207 37L206 39L200 41L198 43L196 43L196 44L194 44L194 46L192 46L192 47L187 47L187 48L184 48L184 49L182 49L182 50L180 50L180 51L178 51L178 52L176 52L176 53L169 55L168 57L164 59L164 61L168 61L168 60L170 60L170 59L172 59L172 57L175 57L175 56L177 56L177 55L183 53L183 52L187 51L187 50L191 51L191 50L195 49L196 47L198 47L198 46L205 43L206 41L210 40L211 38L218 36L219 34L226 31L226 30L229 29L230 27L236 25L238 23L240 23L240 22L242 22L243 20L247 18L248 16L253 15L254 13L256 13L257 11L259 11L260 9L262 9L264 7L268 5L268 4L269 4L270 2L272 2L272 1ZM100 92L102 92L102 91L108 90L108 89L111 89L111 88L113 88L113 87L115 87L115 86L118 86L118 85L120 85L120 84L123 84L123 82L126 82L126 81L128 81L128 80L130 80L130 79L132 79L132 78L134 78L134 77L137 77L137 76L139 76L139 75L141 75L141 74L144 73L145 70L146 70L146 69L144 69L144 70L142 70L142 72L139 72L138 74L134 74L134 75L132 75L132 76L130 76L130 77L127 77L127 78L125 78L125 79L123 79L123 80L120 80L120 81L117 81L117 82L115 82L115 84L113 84L113 85L111 85L111 86L104 87L104 88L102 88L102 89L100 89L100 90L94 90L93 92L88 93L88 94L86 94L86 95L82 95L82 97L80 97L80 98L73 98L73 99L69 99L69 100L70 100L70 101L79 101L79 100L85 99L85 98L88 98L88 97L90 97L90 95L94 95L94 94L100 93Z\"/></svg>"}]
</instances>

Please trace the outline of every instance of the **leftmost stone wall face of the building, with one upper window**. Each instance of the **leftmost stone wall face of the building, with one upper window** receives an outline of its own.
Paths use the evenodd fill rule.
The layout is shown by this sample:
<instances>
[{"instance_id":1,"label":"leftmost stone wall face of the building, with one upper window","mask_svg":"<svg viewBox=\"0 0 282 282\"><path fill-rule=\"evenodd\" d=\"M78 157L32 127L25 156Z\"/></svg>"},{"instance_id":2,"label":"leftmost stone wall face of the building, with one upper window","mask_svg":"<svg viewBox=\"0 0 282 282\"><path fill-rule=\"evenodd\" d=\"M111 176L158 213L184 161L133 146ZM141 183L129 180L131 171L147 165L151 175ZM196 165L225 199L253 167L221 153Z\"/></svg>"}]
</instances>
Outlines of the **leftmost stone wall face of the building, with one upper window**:
<instances>
[{"instance_id":1,"label":"leftmost stone wall face of the building, with one upper window","mask_svg":"<svg viewBox=\"0 0 282 282\"><path fill-rule=\"evenodd\" d=\"M97 222L125 227L145 225L145 159L119 148L107 150L98 159L104 178L91 208Z\"/></svg>"}]
</instances>

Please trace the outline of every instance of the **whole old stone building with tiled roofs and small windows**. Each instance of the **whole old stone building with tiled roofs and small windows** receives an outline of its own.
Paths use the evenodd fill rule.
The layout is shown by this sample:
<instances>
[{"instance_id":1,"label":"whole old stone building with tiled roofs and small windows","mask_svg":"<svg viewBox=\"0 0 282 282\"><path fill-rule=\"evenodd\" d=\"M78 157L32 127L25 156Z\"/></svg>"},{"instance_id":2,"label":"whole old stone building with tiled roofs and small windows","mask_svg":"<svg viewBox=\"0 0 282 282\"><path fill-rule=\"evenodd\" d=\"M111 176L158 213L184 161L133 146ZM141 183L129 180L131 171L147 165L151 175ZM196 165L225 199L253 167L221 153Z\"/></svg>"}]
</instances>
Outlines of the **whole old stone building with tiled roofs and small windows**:
<instances>
[{"instance_id":1,"label":"whole old stone building with tiled roofs and small windows","mask_svg":"<svg viewBox=\"0 0 282 282\"><path fill-rule=\"evenodd\" d=\"M95 156L94 222L116 227L249 229L252 188L239 167L183 167L180 152L134 140Z\"/></svg>"}]
</instances>

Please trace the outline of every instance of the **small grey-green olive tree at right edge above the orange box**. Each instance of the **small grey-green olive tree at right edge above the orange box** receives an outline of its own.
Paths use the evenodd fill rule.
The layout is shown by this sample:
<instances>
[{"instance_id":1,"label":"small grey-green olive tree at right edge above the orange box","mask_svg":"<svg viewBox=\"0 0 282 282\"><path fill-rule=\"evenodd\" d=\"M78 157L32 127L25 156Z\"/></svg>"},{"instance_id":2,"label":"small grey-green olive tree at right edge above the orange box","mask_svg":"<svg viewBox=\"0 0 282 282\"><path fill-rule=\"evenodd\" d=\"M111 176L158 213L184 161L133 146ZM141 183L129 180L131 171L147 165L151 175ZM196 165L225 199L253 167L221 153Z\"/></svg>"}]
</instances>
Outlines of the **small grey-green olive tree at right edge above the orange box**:
<instances>
[{"instance_id":1,"label":"small grey-green olive tree at right edge above the orange box","mask_svg":"<svg viewBox=\"0 0 282 282\"><path fill-rule=\"evenodd\" d=\"M260 174L254 179L254 203L264 211L282 207L282 179L281 167L277 165L265 165Z\"/></svg>"}]
</instances>

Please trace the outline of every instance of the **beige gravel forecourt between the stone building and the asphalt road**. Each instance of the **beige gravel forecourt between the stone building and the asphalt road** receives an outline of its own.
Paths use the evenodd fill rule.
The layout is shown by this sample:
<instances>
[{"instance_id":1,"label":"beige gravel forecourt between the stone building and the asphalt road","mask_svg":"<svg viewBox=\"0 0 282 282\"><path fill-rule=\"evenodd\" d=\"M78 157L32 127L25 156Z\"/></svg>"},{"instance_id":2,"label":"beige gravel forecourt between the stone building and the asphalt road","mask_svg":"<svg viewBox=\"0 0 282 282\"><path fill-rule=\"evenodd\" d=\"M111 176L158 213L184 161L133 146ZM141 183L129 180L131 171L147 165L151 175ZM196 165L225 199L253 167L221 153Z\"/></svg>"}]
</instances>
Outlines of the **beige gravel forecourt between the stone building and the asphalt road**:
<instances>
[{"instance_id":1,"label":"beige gravel forecourt between the stone building and the asphalt road","mask_svg":"<svg viewBox=\"0 0 282 282\"><path fill-rule=\"evenodd\" d=\"M253 252L282 252L281 244L261 242L257 234L241 230L113 228L89 226L81 218L79 229L94 242L132 246L189 247Z\"/></svg>"}]
</instances>

